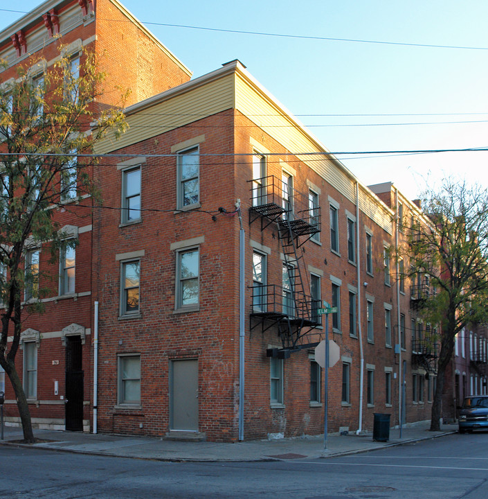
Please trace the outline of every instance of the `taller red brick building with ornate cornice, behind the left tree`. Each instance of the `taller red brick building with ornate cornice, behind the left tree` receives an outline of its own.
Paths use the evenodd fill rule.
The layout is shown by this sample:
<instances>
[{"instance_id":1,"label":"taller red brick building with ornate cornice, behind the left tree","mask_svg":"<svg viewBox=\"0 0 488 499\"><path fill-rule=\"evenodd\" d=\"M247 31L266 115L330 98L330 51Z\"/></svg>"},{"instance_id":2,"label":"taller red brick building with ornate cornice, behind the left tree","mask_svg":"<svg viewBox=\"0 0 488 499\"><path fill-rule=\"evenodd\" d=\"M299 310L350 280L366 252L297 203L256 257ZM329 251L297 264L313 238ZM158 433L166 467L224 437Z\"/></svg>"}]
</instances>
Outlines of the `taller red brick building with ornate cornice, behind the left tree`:
<instances>
[{"instance_id":1,"label":"taller red brick building with ornate cornice, behind the left tree","mask_svg":"<svg viewBox=\"0 0 488 499\"><path fill-rule=\"evenodd\" d=\"M52 0L29 12L0 33L0 85L17 78L17 69L28 69L31 78L52 71L60 53L69 55L78 67L89 51L103 54L107 88L116 84L132 90L135 103L190 79L190 71L168 49L114 0ZM148 65L159 67L154 76ZM97 105L118 105L119 93L109 92ZM87 125L88 126L88 125ZM0 143L1 147L1 143ZM89 202L89 199L87 200ZM24 365L24 387L35 424L50 428L91 427L92 332L93 332L93 220L90 209L58 210L55 220L78 246L60 255L61 263L49 263L46 245L26 254L26 265L51 270L53 279L42 278L39 286L52 288L43 298L46 313L28 317L17 365ZM58 270L59 269L59 270ZM69 283L57 274L69 274ZM58 282L59 281L59 282ZM26 299L28 297L26 296ZM26 354L26 355L23 355ZM4 378L1 374L1 380ZM6 386L6 420L17 423L15 397Z\"/></svg>"}]
</instances>

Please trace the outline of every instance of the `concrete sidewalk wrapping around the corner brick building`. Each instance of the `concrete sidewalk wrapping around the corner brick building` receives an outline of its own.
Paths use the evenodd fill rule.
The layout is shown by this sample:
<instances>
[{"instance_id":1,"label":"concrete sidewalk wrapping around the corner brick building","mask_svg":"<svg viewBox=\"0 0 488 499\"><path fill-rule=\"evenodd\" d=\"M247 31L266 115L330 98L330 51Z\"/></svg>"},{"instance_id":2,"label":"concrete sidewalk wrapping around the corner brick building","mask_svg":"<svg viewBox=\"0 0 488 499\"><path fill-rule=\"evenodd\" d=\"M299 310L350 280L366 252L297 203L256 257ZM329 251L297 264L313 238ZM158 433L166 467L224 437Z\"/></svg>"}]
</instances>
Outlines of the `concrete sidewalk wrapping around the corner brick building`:
<instances>
[{"instance_id":1,"label":"concrete sidewalk wrapping around the corner brick building","mask_svg":"<svg viewBox=\"0 0 488 499\"><path fill-rule=\"evenodd\" d=\"M410 442L449 435L458 430L457 425L442 425L442 431L430 432L430 422L390 429L387 442L372 440L372 433L362 435L332 435L324 449L323 436L297 437L278 440L255 440L220 444L215 442L170 441L151 437L123 437L120 435L93 435L82 432L34 430L34 435L44 441L33 445L18 444L23 438L21 428L4 428L0 445L45 448L72 453L156 459L161 461L272 461L280 459L315 459L368 450L397 446Z\"/></svg>"}]
</instances>

